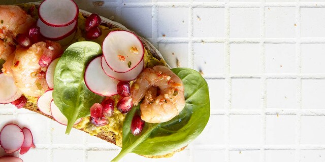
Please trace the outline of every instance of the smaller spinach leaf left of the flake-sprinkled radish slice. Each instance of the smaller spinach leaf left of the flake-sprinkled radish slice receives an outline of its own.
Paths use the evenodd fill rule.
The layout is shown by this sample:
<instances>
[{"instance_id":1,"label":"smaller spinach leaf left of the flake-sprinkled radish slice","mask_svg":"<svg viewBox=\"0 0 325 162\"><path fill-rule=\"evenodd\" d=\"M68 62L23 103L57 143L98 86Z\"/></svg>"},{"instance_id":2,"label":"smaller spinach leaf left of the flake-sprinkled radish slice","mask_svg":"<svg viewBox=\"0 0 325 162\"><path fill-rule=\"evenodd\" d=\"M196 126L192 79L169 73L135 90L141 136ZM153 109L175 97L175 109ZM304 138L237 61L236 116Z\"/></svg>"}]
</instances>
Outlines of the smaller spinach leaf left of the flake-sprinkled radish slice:
<instances>
[{"instance_id":1,"label":"smaller spinach leaf left of the flake-sprinkled radish slice","mask_svg":"<svg viewBox=\"0 0 325 162\"><path fill-rule=\"evenodd\" d=\"M54 71L53 100L68 118L66 134L80 117L90 115L90 107L101 103L104 97L92 93L84 82L86 65L102 53L102 48L94 42L77 42L64 51Z\"/></svg>"}]
</instances>

